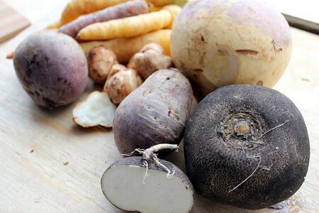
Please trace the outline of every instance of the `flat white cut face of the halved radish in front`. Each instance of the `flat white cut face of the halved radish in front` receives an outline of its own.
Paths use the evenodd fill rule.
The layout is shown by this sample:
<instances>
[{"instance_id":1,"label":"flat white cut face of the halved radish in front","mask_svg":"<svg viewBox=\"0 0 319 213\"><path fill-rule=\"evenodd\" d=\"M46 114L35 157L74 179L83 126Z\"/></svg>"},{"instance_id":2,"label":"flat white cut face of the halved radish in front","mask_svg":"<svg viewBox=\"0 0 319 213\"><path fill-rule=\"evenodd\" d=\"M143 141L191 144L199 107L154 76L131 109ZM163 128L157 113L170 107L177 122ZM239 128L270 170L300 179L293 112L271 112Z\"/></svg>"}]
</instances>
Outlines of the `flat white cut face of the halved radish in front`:
<instances>
[{"instance_id":1,"label":"flat white cut face of the halved radish in front","mask_svg":"<svg viewBox=\"0 0 319 213\"><path fill-rule=\"evenodd\" d=\"M101 185L111 204L128 212L186 213L193 206L193 191L177 176L145 168L118 165L104 173Z\"/></svg>"}]
</instances>

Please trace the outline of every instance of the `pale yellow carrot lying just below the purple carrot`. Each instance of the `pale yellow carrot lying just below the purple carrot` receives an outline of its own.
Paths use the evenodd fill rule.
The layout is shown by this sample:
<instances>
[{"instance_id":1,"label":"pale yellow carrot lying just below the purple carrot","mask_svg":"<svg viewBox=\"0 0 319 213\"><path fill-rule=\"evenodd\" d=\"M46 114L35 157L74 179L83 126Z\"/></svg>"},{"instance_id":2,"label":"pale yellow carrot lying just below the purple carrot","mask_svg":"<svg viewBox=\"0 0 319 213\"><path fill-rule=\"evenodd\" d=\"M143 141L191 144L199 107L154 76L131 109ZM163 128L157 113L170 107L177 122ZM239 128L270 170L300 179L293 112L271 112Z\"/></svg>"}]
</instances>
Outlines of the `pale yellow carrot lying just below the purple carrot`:
<instances>
[{"instance_id":1,"label":"pale yellow carrot lying just below the purple carrot","mask_svg":"<svg viewBox=\"0 0 319 213\"><path fill-rule=\"evenodd\" d=\"M181 11L177 5L164 6L157 12L131 16L102 23L94 23L79 31L79 40L109 40L128 38L172 26L175 16Z\"/></svg>"}]
</instances>

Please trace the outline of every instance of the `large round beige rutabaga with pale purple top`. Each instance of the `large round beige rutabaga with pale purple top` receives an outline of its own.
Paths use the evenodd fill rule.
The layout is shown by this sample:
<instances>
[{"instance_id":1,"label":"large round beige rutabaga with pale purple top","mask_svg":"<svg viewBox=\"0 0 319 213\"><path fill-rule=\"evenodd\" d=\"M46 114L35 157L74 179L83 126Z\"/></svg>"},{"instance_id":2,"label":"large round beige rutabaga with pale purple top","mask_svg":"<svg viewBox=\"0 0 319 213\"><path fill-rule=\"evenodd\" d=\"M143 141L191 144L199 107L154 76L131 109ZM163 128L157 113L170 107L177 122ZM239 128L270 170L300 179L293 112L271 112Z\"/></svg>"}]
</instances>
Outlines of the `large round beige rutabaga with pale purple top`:
<instances>
[{"instance_id":1,"label":"large round beige rutabaga with pale purple top","mask_svg":"<svg viewBox=\"0 0 319 213\"><path fill-rule=\"evenodd\" d=\"M227 84L274 86L291 48L284 16L261 1L194 0L172 28L174 64L206 94Z\"/></svg>"}]
</instances>

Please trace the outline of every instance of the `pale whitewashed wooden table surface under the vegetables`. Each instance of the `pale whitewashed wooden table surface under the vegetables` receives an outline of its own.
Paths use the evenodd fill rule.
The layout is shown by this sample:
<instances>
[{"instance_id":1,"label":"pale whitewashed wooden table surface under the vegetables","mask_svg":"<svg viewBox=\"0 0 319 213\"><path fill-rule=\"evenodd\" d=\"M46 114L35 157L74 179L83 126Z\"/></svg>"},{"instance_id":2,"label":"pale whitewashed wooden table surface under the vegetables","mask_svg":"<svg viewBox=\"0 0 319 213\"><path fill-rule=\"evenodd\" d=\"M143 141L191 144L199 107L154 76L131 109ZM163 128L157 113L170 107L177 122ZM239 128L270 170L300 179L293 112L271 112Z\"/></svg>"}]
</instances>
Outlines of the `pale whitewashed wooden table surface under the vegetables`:
<instances>
[{"instance_id":1,"label":"pale whitewashed wooden table surface under the vegetables","mask_svg":"<svg viewBox=\"0 0 319 213\"><path fill-rule=\"evenodd\" d=\"M52 18L51 18L52 19ZM72 122L76 103L47 111L36 107L4 59L40 21L0 46L0 212L121 212L103 197L100 178L121 159L112 131L82 129ZM274 89L304 116L311 157L306 181L280 211L319 212L319 36L291 28L293 55ZM85 99L95 88L89 83ZM184 168L182 153L167 157ZM195 196L192 212L250 212Z\"/></svg>"}]
</instances>

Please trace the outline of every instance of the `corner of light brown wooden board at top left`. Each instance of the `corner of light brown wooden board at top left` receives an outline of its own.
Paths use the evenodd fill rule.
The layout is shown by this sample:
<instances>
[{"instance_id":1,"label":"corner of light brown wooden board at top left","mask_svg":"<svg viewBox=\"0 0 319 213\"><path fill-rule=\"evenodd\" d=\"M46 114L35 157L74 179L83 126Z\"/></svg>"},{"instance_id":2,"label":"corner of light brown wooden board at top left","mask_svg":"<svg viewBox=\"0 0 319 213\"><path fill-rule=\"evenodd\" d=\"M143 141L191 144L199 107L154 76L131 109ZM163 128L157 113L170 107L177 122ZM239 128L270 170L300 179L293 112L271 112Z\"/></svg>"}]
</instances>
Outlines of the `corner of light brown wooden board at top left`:
<instances>
[{"instance_id":1,"label":"corner of light brown wooden board at top left","mask_svg":"<svg viewBox=\"0 0 319 213\"><path fill-rule=\"evenodd\" d=\"M30 26L28 19L0 0L0 43L18 34L28 26Z\"/></svg>"}]
</instances>

